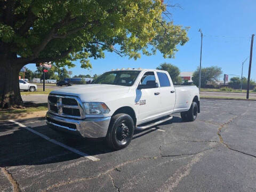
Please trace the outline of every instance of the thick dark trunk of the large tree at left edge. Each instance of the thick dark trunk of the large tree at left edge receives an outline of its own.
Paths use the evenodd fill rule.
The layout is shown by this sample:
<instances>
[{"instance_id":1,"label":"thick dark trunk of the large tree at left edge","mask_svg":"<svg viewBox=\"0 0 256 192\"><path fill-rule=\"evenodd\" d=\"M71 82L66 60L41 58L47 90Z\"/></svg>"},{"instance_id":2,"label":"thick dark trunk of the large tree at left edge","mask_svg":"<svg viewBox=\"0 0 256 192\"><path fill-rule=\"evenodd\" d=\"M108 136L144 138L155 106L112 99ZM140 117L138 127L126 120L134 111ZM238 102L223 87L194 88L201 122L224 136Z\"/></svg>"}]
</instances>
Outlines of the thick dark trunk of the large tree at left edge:
<instances>
[{"instance_id":1,"label":"thick dark trunk of the large tree at left edge","mask_svg":"<svg viewBox=\"0 0 256 192\"><path fill-rule=\"evenodd\" d=\"M22 105L19 86L19 71L22 66L14 66L11 59L0 58L0 108Z\"/></svg>"}]
</instances>

